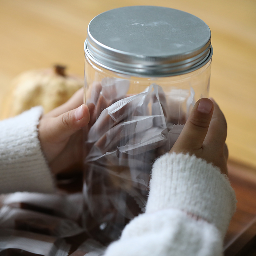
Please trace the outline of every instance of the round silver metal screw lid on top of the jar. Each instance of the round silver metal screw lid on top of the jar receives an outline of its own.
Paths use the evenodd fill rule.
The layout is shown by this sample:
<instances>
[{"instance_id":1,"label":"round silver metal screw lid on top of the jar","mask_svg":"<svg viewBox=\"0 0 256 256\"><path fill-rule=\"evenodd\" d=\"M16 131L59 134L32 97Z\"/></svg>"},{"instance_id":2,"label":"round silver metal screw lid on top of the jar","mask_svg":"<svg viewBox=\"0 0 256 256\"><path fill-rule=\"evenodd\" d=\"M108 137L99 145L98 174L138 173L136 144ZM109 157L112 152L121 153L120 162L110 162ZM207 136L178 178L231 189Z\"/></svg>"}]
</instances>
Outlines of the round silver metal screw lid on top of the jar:
<instances>
[{"instance_id":1,"label":"round silver metal screw lid on top of the jar","mask_svg":"<svg viewBox=\"0 0 256 256\"><path fill-rule=\"evenodd\" d=\"M91 61L115 72L174 76L196 70L211 59L211 31L187 12L127 6L91 20L84 51Z\"/></svg>"}]
</instances>

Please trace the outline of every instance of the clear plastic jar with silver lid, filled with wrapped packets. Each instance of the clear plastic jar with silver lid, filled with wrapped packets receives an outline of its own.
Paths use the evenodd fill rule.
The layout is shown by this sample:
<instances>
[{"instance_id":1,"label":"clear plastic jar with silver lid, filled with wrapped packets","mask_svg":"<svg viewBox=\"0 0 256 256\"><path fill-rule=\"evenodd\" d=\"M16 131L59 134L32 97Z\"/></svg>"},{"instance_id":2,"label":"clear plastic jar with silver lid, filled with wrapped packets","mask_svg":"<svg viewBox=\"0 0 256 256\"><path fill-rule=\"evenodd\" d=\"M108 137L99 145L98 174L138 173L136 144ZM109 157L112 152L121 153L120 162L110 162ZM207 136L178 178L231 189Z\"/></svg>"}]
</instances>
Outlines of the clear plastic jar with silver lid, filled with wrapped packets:
<instances>
[{"instance_id":1,"label":"clear plastic jar with silver lid, filled with wrapped packets","mask_svg":"<svg viewBox=\"0 0 256 256\"><path fill-rule=\"evenodd\" d=\"M96 16L84 49L84 226L106 244L145 210L152 163L208 97L211 32L186 12L130 6Z\"/></svg>"}]
</instances>

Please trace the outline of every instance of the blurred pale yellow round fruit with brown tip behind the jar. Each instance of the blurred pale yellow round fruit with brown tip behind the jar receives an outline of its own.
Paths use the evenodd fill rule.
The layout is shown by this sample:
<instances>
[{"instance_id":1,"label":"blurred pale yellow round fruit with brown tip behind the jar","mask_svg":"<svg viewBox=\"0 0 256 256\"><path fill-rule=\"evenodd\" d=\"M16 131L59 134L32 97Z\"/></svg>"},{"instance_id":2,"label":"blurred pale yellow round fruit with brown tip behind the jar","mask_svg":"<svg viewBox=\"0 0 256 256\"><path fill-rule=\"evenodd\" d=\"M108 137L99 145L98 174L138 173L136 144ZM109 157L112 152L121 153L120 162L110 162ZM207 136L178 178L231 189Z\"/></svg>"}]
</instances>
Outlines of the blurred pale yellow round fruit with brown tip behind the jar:
<instances>
[{"instance_id":1,"label":"blurred pale yellow round fruit with brown tip behind the jar","mask_svg":"<svg viewBox=\"0 0 256 256\"><path fill-rule=\"evenodd\" d=\"M9 116L38 105L47 113L65 103L83 84L82 78L66 75L66 67L60 65L21 73L12 81Z\"/></svg>"}]
</instances>

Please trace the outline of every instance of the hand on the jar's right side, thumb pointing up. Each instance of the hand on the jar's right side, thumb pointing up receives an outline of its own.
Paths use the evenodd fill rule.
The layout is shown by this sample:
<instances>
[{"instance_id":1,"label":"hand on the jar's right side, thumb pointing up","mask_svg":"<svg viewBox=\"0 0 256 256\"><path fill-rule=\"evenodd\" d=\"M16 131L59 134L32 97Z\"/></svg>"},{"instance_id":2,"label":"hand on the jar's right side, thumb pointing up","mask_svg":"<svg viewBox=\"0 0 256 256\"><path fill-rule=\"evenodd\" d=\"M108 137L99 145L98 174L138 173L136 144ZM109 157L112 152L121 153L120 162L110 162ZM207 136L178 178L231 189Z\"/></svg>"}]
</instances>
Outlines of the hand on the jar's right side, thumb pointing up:
<instances>
[{"instance_id":1,"label":"hand on the jar's right side, thumb pointing up","mask_svg":"<svg viewBox=\"0 0 256 256\"><path fill-rule=\"evenodd\" d=\"M170 153L188 153L203 158L227 174L227 122L214 100L202 98L192 109L188 120Z\"/></svg>"}]
</instances>

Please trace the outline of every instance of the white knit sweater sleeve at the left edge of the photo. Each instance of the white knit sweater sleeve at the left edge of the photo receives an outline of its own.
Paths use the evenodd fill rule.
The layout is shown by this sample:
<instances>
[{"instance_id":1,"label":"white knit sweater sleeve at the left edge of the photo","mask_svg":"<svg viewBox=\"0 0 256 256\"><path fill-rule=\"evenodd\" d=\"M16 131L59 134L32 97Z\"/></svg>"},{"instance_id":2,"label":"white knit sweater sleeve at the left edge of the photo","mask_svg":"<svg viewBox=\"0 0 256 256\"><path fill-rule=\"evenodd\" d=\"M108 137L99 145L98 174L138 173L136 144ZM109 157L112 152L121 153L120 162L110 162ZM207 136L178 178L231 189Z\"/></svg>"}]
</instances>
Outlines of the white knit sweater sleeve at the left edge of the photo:
<instances>
[{"instance_id":1,"label":"white knit sweater sleeve at the left edge of the photo","mask_svg":"<svg viewBox=\"0 0 256 256\"><path fill-rule=\"evenodd\" d=\"M52 193L54 180L38 139L42 107L0 122L0 193Z\"/></svg>"}]
</instances>

